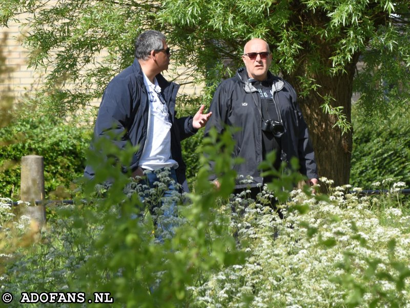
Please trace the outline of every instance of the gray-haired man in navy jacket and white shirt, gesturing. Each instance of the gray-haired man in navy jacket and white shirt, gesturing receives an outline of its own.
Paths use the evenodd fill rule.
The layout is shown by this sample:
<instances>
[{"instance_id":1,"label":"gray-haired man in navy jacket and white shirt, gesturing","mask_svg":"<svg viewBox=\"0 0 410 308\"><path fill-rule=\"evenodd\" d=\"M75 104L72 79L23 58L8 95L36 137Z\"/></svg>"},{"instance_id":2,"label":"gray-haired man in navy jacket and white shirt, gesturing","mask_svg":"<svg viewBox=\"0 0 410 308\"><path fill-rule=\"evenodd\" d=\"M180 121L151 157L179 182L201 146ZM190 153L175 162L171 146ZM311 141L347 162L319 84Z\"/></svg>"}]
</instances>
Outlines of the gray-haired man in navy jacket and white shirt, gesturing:
<instances>
[{"instance_id":1,"label":"gray-haired man in navy jacket and white shirt, gesturing","mask_svg":"<svg viewBox=\"0 0 410 308\"><path fill-rule=\"evenodd\" d=\"M155 171L170 168L170 177L188 191L180 142L203 127L211 113L203 114L202 105L194 117L175 117L179 85L161 75L168 69L170 56L161 32L148 30L136 38L133 64L116 75L104 91L94 140L114 138L121 149L127 144L138 146L130 165L122 167L123 172L144 176L153 187L158 181ZM95 172L88 165L84 175L93 178ZM168 190L177 188L170 185Z\"/></svg>"}]
</instances>

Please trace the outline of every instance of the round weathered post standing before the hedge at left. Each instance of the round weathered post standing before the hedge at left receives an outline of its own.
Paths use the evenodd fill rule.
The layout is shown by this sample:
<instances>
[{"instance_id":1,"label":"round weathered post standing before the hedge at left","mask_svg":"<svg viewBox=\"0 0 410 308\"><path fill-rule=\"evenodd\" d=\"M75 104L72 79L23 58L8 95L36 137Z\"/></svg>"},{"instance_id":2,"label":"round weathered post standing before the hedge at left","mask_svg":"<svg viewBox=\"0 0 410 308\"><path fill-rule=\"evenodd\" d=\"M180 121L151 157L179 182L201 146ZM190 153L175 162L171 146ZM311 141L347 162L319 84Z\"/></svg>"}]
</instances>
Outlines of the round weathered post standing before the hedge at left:
<instances>
[{"instance_id":1,"label":"round weathered post standing before the hedge at left","mask_svg":"<svg viewBox=\"0 0 410 308\"><path fill-rule=\"evenodd\" d=\"M22 173L20 182L20 199L30 202L24 214L42 226L46 222L46 207L36 205L35 201L44 200L44 158L37 155L22 157Z\"/></svg>"}]
</instances>

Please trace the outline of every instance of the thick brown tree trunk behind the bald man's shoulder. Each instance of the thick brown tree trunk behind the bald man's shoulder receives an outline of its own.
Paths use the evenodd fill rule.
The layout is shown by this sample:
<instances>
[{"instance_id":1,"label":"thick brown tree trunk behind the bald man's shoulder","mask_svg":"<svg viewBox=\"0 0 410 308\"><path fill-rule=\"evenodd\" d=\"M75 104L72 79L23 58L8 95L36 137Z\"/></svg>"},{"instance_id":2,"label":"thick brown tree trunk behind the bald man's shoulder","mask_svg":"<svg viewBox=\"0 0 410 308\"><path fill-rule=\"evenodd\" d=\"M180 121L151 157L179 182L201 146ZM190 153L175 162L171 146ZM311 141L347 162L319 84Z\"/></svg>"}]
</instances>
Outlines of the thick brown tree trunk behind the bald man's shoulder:
<instances>
[{"instance_id":1,"label":"thick brown tree trunk behind the bald man's shoulder","mask_svg":"<svg viewBox=\"0 0 410 308\"><path fill-rule=\"evenodd\" d=\"M330 96L335 99L331 105L342 106L346 120L352 122L351 100L356 62L348 65L347 73L344 74L329 76L318 73L311 76L320 88L316 93L312 91L307 97L299 98L299 105L308 124L310 139L315 150L319 177L333 180L335 186L349 183L353 131L342 134L339 127L334 127L337 122L336 116L325 114L320 106L324 103L323 97ZM285 76L285 79L288 79L295 86L296 91L300 92L297 79L292 76Z\"/></svg>"}]
</instances>

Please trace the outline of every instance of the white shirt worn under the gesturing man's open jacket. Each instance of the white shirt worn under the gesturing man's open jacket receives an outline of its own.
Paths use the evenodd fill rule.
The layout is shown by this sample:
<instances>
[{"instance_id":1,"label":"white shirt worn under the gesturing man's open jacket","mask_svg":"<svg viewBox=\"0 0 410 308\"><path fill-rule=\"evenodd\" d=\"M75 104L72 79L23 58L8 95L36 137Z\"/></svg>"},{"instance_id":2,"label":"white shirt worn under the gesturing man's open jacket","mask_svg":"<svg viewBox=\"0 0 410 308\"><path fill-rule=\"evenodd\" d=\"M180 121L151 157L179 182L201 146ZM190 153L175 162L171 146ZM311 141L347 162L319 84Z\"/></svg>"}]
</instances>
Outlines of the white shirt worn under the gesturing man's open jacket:
<instances>
[{"instance_id":1,"label":"white shirt worn under the gesturing man's open jacket","mask_svg":"<svg viewBox=\"0 0 410 308\"><path fill-rule=\"evenodd\" d=\"M178 163L171 159L171 126L168 107L161 96L161 88L156 78L154 84L144 74L144 84L149 97L149 115L147 140L142 152L139 166L156 170L165 167L178 167Z\"/></svg>"}]
</instances>

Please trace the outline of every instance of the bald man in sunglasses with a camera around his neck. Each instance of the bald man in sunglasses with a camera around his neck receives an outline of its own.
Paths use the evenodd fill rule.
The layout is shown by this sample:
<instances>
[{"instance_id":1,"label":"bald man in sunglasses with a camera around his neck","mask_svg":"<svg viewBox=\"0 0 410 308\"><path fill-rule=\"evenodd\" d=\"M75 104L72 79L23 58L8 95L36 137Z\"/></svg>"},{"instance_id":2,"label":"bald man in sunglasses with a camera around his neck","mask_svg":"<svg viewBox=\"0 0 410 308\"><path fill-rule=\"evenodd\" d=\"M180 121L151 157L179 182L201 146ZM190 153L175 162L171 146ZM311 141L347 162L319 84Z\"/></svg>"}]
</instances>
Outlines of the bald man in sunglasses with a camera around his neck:
<instances>
[{"instance_id":1,"label":"bald man in sunglasses with a camera around his neck","mask_svg":"<svg viewBox=\"0 0 410 308\"><path fill-rule=\"evenodd\" d=\"M251 188L251 197L256 199L260 184L272 180L263 178L258 166L273 150L276 169L282 161L289 163L296 157L300 172L308 178L306 182L317 184L315 155L296 92L288 82L269 71L272 53L268 43L260 38L252 39L245 44L242 60L245 67L216 89L210 107L213 115L205 128L205 134L212 127L219 133L225 125L240 128L233 136L234 156L243 158L244 163L235 165L234 169L238 176L251 176L253 181L237 181L235 192ZM219 186L218 180L213 180Z\"/></svg>"}]
</instances>

